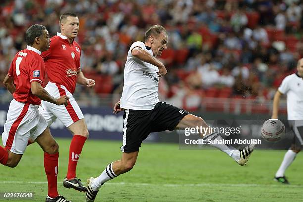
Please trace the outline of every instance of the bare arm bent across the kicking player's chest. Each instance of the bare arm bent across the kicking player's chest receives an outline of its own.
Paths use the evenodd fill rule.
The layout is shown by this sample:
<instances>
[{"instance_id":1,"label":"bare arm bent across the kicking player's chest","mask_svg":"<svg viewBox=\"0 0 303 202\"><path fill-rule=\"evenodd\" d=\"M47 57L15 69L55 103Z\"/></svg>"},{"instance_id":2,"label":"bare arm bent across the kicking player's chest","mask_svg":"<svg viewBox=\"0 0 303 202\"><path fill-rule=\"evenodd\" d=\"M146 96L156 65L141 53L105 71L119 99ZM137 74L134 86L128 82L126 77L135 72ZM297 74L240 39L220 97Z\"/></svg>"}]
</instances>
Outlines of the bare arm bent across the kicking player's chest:
<instances>
[{"instance_id":1,"label":"bare arm bent across the kicking player's chest","mask_svg":"<svg viewBox=\"0 0 303 202\"><path fill-rule=\"evenodd\" d=\"M132 55L134 57L137 57L141 61L150 63L150 64L158 67L159 68L159 72L157 72L157 74L159 75L158 77L161 77L161 76L164 76L165 74L167 74L167 70L166 70L164 64L157 58L150 55L147 51L143 50L142 48L140 48L140 47L133 48Z\"/></svg>"}]
</instances>

